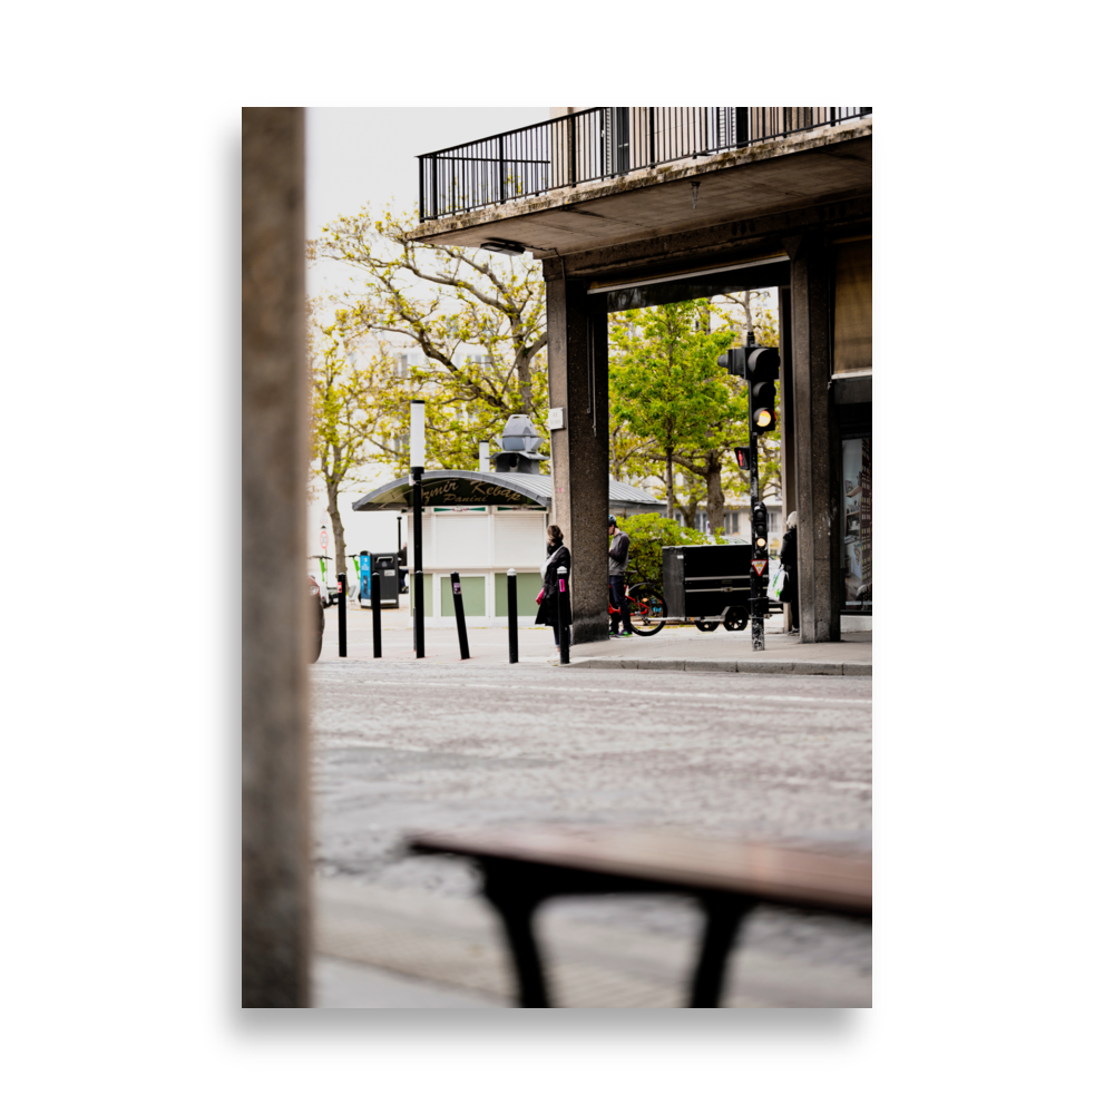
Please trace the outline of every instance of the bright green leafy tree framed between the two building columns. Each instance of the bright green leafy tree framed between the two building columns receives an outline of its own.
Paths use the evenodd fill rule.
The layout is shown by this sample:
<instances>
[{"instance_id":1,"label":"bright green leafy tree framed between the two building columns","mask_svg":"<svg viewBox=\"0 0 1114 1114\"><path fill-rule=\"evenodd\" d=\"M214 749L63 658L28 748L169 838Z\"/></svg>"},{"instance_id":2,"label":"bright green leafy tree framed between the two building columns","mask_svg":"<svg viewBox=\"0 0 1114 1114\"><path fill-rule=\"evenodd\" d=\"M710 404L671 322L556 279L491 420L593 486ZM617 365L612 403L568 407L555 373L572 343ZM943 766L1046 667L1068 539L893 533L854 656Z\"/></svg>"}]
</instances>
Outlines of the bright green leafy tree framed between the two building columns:
<instances>
[{"instance_id":1,"label":"bright green leafy tree framed between the two building columns","mask_svg":"<svg viewBox=\"0 0 1114 1114\"><path fill-rule=\"evenodd\" d=\"M670 519L678 451L702 444L709 427L737 409L715 362L733 336L709 329L709 304L701 299L627 310L614 315L610 326L613 420L629 436L653 442L642 455L665 466Z\"/></svg>"}]
</instances>

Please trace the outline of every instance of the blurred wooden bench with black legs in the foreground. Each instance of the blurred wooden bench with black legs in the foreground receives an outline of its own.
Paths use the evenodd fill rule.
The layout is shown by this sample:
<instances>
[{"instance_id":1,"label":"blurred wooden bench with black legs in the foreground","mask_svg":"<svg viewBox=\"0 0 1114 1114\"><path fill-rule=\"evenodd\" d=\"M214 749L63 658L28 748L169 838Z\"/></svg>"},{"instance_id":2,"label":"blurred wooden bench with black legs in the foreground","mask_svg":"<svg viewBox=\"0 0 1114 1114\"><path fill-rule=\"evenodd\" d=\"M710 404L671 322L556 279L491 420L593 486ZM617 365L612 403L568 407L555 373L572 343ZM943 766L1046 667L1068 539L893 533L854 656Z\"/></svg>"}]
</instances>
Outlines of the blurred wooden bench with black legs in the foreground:
<instances>
[{"instance_id":1,"label":"blurred wooden bench with black legs in the foreground","mask_svg":"<svg viewBox=\"0 0 1114 1114\"><path fill-rule=\"evenodd\" d=\"M760 902L871 915L871 857L664 832L555 827L411 833L419 854L462 854L483 873L518 971L519 1004L549 1005L534 938L538 905L557 895L686 893L704 908L691 1008L715 1008L743 918Z\"/></svg>"}]
</instances>

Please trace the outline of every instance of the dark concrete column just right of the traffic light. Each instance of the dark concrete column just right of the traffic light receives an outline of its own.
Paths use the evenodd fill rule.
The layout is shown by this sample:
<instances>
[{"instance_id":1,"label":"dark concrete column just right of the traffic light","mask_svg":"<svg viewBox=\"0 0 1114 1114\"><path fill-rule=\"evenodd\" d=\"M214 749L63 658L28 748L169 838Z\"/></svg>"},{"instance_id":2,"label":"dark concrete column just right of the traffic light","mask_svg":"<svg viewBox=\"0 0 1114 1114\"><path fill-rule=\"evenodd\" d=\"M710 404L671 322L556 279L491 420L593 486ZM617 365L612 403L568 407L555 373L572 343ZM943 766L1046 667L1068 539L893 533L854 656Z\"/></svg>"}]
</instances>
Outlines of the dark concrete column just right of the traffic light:
<instances>
[{"instance_id":1,"label":"dark concrete column just right of the traffic light","mask_svg":"<svg viewBox=\"0 0 1114 1114\"><path fill-rule=\"evenodd\" d=\"M801 642L839 642L839 428L831 381L831 283L819 236L785 241L790 257L793 448Z\"/></svg>"}]
</instances>

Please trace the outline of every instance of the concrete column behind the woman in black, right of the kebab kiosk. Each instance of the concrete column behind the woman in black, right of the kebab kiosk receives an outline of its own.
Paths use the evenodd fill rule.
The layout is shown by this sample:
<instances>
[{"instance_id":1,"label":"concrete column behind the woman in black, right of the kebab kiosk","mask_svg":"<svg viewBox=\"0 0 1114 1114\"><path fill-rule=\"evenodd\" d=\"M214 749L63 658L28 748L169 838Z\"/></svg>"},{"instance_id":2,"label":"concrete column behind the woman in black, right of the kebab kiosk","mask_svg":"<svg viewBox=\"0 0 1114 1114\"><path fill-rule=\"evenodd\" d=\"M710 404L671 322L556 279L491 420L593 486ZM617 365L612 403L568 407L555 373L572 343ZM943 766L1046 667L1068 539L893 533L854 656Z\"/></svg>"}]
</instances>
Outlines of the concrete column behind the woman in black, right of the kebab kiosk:
<instances>
[{"instance_id":1,"label":"concrete column behind the woman in black, right of the kebab kiosk","mask_svg":"<svg viewBox=\"0 0 1114 1114\"><path fill-rule=\"evenodd\" d=\"M554 430L550 521L573 555L573 645L607 638L607 315L588 315L584 284L546 283L549 405Z\"/></svg>"}]
</instances>

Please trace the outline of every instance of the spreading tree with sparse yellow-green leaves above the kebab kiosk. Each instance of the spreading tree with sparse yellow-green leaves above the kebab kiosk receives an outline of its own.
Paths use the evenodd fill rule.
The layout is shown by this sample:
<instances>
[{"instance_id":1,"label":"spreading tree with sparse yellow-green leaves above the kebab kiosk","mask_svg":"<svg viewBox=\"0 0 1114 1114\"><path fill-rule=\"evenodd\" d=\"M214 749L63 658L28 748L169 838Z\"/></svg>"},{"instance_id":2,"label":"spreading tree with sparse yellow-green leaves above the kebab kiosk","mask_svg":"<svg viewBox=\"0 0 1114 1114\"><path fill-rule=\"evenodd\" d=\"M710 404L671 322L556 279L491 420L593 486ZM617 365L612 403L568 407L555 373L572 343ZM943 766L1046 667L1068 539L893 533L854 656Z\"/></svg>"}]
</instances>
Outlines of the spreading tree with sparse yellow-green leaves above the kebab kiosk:
<instances>
[{"instance_id":1,"label":"spreading tree with sparse yellow-green leaves above the kebab kiosk","mask_svg":"<svg viewBox=\"0 0 1114 1114\"><path fill-rule=\"evenodd\" d=\"M409 401L426 400L427 459L475 468L478 442L494 440L514 413L532 418L548 451L546 299L541 266L471 248L412 240L417 213L368 209L329 224L307 254L353 267L360 285L345 296L354 325L384 351L413 356L385 384L389 413L379 458L401 465ZM482 355L465 354L480 349Z\"/></svg>"}]
</instances>

